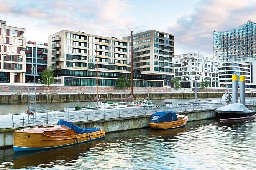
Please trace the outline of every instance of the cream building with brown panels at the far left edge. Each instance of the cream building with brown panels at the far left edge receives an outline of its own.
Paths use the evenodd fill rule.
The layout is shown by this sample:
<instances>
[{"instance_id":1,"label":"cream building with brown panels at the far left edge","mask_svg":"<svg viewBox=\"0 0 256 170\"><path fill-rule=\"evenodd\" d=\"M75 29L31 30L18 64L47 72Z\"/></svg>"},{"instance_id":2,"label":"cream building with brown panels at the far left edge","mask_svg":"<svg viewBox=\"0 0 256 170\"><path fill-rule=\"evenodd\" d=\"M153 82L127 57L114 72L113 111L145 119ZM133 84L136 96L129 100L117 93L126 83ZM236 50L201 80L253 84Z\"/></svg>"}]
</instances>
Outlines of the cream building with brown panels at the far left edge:
<instances>
[{"instance_id":1,"label":"cream building with brown panels at the far left edge","mask_svg":"<svg viewBox=\"0 0 256 170\"><path fill-rule=\"evenodd\" d=\"M25 83L25 28L0 21L0 82Z\"/></svg>"}]
</instances>

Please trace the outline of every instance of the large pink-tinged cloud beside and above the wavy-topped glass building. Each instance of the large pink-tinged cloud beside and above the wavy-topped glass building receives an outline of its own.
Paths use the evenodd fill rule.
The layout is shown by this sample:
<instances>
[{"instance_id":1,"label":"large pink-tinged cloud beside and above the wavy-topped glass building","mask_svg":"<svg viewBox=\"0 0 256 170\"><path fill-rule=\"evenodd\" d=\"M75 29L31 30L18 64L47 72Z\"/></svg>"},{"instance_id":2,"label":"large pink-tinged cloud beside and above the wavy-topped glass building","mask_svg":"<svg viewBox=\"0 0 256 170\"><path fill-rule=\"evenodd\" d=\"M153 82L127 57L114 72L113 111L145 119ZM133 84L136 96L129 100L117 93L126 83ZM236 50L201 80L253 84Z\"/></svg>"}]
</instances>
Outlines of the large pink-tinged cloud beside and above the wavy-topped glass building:
<instances>
[{"instance_id":1,"label":"large pink-tinged cloud beside and above the wavy-topped glass building","mask_svg":"<svg viewBox=\"0 0 256 170\"><path fill-rule=\"evenodd\" d=\"M201 1L193 13L182 13L166 30L174 32L175 46L182 53L197 51L212 57L213 31L231 30L247 20L255 20L255 9L255 0Z\"/></svg>"}]
</instances>

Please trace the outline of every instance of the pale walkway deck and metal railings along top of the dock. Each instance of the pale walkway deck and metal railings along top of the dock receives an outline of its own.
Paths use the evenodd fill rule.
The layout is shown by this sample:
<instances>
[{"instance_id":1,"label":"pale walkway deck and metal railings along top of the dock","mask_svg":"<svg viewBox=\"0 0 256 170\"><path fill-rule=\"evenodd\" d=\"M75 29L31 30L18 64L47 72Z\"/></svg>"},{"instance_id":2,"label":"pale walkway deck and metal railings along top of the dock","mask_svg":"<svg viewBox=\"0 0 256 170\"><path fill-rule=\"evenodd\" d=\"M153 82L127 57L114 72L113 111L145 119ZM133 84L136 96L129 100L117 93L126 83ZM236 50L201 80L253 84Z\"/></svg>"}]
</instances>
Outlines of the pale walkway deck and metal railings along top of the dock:
<instances>
[{"instance_id":1,"label":"pale walkway deck and metal railings along top of the dock","mask_svg":"<svg viewBox=\"0 0 256 170\"><path fill-rule=\"evenodd\" d=\"M51 112L36 112L33 120L28 117L27 113L17 113L2 115L0 128L36 126L42 124L55 124L59 120L68 122L81 121L99 121L111 120L114 118L125 118L133 116L151 116L156 112L174 111L185 112L200 111L200 110L215 110L216 108L225 106L224 101L219 102L201 102L201 103L179 103L168 105L151 105L151 106L136 106L136 107L117 107L107 109L89 109L89 110L74 110L74 111L51 111ZM246 100L246 105L256 105L256 100Z\"/></svg>"}]
</instances>

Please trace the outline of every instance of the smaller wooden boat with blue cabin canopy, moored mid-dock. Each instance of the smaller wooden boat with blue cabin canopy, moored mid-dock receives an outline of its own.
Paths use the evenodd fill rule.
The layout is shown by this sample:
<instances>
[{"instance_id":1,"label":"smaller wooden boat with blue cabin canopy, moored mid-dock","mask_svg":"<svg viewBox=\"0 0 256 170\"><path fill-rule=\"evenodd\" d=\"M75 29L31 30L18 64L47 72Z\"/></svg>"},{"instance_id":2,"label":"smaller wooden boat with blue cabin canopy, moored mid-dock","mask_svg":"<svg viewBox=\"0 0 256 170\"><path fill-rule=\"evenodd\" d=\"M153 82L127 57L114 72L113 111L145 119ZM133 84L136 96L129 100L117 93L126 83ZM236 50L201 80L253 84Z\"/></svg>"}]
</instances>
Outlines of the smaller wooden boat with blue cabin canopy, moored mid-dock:
<instances>
[{"instance_id":1,"label":"smaller wooden boat with blue cabin canopy, moored mid-dock","mask_svg":"<svg viewBox=\"0 0 256 170\"><path fill-rule=\"evenodd\" d=\"M187 115L177 115L175 112L157 112L152 115L149 126L153 129L171 129L185 126Z\"/></svg>"}]
</instances>

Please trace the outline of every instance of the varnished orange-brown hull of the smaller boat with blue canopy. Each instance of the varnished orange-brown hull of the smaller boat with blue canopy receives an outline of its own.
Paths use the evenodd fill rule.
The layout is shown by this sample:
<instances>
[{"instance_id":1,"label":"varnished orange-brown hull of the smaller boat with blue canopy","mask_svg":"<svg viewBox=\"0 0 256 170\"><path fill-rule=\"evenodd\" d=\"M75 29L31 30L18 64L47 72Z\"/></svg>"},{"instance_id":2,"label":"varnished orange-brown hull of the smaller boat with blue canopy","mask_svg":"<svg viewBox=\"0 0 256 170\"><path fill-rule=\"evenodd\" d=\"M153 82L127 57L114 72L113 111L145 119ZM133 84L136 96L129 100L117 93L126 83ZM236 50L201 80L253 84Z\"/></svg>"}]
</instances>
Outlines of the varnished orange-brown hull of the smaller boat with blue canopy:
<instances>
[{"instance_id":1,"label":"varnished orange-brown hull of the smaller boat with blue canopy","mask_svg":"<svg viewBox=\"0 0 256 170\"><path fill-rule=\"evenodd\" d=\"M181 117L181 119L172 122L164 122L164 123L152 123L149 122L149 126L153 129L172 129L172 128L179 128L185 126L187 123L188 117L185 115Z\"/></svg>"}]
</instances>

